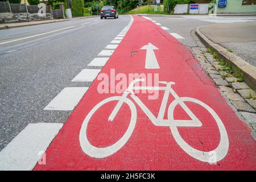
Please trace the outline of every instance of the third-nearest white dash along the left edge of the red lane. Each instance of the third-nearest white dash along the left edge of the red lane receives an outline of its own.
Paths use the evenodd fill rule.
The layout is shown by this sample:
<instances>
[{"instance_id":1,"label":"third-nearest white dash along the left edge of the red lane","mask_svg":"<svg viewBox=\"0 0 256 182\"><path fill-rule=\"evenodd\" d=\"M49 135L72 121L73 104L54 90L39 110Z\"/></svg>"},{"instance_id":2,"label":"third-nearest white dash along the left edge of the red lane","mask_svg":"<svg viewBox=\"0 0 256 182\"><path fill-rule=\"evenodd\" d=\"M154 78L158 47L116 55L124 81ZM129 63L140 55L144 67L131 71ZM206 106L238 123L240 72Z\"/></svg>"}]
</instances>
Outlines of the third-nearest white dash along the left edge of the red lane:
<instances>
[{"instance_id":1,"label":"third-nearest white dash along the left edge of the red lane","mask_svg":"<svg viewBox=\"0 0 256 182\"><path fill-rule=\"evenodd\" d=\"M101 69L83 69L72 81L93 81Z\"/></svg>"}]
</instances>

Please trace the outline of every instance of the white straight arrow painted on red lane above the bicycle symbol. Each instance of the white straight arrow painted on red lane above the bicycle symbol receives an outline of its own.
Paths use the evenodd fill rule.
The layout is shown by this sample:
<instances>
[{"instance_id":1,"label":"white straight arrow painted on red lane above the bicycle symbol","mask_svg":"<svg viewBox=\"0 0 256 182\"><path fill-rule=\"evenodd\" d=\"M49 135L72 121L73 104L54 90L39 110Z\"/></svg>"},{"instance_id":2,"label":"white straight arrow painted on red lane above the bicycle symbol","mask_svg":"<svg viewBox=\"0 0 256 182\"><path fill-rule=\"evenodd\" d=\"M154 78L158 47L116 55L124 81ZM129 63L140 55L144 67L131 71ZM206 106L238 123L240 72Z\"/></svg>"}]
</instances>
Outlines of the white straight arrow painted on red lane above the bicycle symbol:
<instances>
[{"instance_id":1,"label":"white straight arrow painted on red lane above the bicycle symbol","mask_svg":"<svg viewBox=\"0 0 256 182\"><path fill-rule=\"evenodd\" d=\"M141 49L146 49L146 69L159 69L158 60L155 57L154 50L158 49L153 44L148 43L146 46L143 46Z\"/></svg>"}]
</instances>

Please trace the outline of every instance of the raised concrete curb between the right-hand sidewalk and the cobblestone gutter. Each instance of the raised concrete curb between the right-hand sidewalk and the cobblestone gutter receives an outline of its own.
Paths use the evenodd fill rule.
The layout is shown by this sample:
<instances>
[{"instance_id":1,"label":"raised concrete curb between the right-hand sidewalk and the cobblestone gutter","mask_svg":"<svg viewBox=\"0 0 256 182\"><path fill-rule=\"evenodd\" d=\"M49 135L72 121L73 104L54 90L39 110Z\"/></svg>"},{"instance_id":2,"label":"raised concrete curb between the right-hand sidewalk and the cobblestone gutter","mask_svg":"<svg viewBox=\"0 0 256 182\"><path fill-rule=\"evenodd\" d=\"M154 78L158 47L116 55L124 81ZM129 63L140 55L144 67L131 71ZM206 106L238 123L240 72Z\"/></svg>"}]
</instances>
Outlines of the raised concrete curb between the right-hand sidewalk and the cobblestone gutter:
<instances>
[{"instance_id":1,"label":"raised concrete curb between the right-hand sidewalk and the cobblestone gutter","mask_svg":"<svg viewBox=\"0 0 256 182\"><path fill-rule=\"evenodd\" d=\"M232 65L233 71L241 71L246 84L249 85L250 88L256 90L256 67L250 65L245 60L241 59L241 57L229 52L224 47L213 43L207 38L207 36L200 32L200 28L201 27L196 28L196 35L205 44L205 46L208 48L211 47L213 52L216 52L220 59L223 59L226 63Z\"/></svg>"}]
</instances>

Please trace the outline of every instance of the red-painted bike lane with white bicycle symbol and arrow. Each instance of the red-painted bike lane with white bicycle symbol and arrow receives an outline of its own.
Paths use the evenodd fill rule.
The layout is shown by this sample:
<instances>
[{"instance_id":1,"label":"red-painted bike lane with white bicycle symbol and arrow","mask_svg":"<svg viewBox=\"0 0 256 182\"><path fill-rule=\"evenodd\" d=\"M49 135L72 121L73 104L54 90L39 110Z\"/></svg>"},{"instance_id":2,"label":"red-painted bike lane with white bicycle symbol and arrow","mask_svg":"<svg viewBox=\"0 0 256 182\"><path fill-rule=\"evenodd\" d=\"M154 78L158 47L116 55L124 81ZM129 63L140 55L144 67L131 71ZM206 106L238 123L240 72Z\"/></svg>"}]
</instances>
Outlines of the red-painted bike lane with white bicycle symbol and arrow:
<instances>
[{"instance_id":1,"label":"red-painted bike lane with white bicycle symbol and arrow","mask_svg":"<svg viewBox=\"0 0 256 182\"><path fill-rule=\"evenodd\" d=\"M121 78L105 80L109 93L99 93L99 75L48 147L46 164L37 164L34 170L255 170L253 138L189 49L150 20L133 17L130 30L100 75L105 73L110 79L122 73L125 80L129 73L138 73L175 82L171 88L177 96L170 93L167 98L163 90L155 99L148 99L152 93L134 96L155 117L163 113L159 108L166 102L163 123L191 119L185 104L202 126L156 126L130 93L109 121L120 98L113 96L122 96L110 82L118 86ZM162 82L159 86L167 85ZM174 102L177 106L172 114L168 106Z\"/></svg>"}]
</instances>

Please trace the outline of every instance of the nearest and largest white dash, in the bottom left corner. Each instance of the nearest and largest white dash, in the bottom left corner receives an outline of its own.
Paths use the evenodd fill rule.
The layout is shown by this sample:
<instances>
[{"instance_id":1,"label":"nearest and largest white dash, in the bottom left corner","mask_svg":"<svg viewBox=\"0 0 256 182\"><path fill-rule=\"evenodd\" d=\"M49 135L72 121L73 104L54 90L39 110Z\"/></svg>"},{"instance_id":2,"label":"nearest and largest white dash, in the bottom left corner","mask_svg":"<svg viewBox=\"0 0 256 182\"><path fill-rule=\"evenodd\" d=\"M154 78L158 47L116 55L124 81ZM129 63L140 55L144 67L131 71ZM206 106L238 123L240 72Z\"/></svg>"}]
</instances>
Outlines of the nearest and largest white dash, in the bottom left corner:
<instances>
[{"instance_id":1,"label":"nearest and largest white dash, in the bottom left corner","mask_svg":"<svg viewBox=\"0 0 256 182\"><path fill-rule=\"evenodd\" d=\"M30 123L0 152L1 171L32 170L42 158L62 123ZM40 163L47 163L44 158Z\"/></svg>"}]
</instances>

